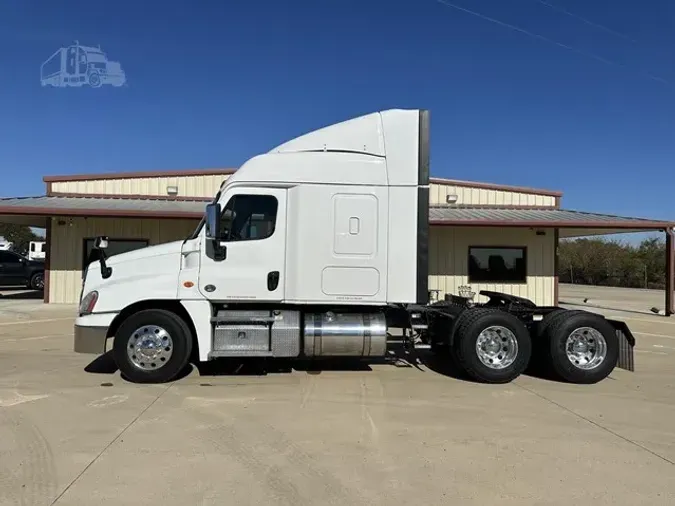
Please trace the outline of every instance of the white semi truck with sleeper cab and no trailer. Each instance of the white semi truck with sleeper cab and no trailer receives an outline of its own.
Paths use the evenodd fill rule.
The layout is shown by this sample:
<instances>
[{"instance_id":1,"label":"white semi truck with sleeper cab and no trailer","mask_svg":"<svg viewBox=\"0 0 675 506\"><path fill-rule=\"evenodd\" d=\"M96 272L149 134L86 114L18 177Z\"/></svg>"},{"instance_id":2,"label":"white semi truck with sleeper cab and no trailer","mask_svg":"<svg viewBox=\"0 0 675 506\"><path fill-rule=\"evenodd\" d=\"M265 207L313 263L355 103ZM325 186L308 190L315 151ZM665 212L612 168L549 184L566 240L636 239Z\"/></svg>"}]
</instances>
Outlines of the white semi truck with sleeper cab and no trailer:
<instances>
[{"instance_id":1,"label":"white semi truck with sleeper cab and no trailer","mask_svg":"<svg viewBox=\"0 0 675 506\"><path fill-rule=\"evenodd\" d=\"M476 381L537 361L575 383L632 370L626 325L481 292L429 303L429 114L386 110L248 160L183 241L86 270L76 352L112 354L139 383L219 357L382 357L389 329ZM400 342L400 338L399 342Z\"/></svg>"}]
</instances>

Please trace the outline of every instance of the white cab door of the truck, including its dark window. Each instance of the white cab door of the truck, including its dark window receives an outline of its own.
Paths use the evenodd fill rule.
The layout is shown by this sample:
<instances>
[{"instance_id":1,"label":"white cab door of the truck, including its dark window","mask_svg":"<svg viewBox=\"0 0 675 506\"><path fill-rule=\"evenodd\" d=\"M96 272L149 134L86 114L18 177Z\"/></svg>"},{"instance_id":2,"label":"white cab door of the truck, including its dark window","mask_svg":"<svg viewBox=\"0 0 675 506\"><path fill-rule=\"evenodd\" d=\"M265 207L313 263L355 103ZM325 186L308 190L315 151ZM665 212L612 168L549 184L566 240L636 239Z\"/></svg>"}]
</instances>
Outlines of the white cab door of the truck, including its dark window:
<instances>
[{"instance_id":1,"label":"white cab door of the truck, including its dark window","mask_svg":"<svg viewBox=\"0 0 675 506\"><path fill-rule=\"evenodd\" d=\"M282 188L233 188L221 199L216 251L203 240L199 290L214 302L281 301L285 296L286 192Z\"/></svg>"}]
</instances>

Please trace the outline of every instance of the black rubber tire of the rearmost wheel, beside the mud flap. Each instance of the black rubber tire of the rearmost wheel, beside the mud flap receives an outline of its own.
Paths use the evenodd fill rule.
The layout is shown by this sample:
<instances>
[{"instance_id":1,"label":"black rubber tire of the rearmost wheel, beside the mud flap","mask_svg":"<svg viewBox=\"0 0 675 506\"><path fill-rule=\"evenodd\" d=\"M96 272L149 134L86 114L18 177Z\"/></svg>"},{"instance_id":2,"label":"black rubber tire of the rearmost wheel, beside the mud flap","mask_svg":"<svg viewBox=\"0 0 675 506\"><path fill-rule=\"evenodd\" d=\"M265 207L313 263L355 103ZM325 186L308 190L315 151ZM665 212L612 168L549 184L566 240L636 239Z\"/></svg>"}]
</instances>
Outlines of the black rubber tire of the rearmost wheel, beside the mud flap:
<instances>
[{"instance_id":1,"label":"black rubber tire of the rearmost wheel, beside the mud flap","mask_svg":"<svg viewBox=\"0 0 675 506\"><path fill-rule=\"evenodd\" d=\"M567 355L567 339L576 329L594 329L599 332L605 343L605 356L602 361L592 368L585 369L583 365L571 360ZM588 346L599 346L597 337L590 331L582 332L588 339ZM616 367L619 359L619 339L614 327L600 315L586 311L570 311L567 314L557 315L545 331L548 340L547 361L552 372L561 380L577 384L592 384L602 381ZM597 348L589 348L594 350Z\"/></svg>"}]
</instances>

